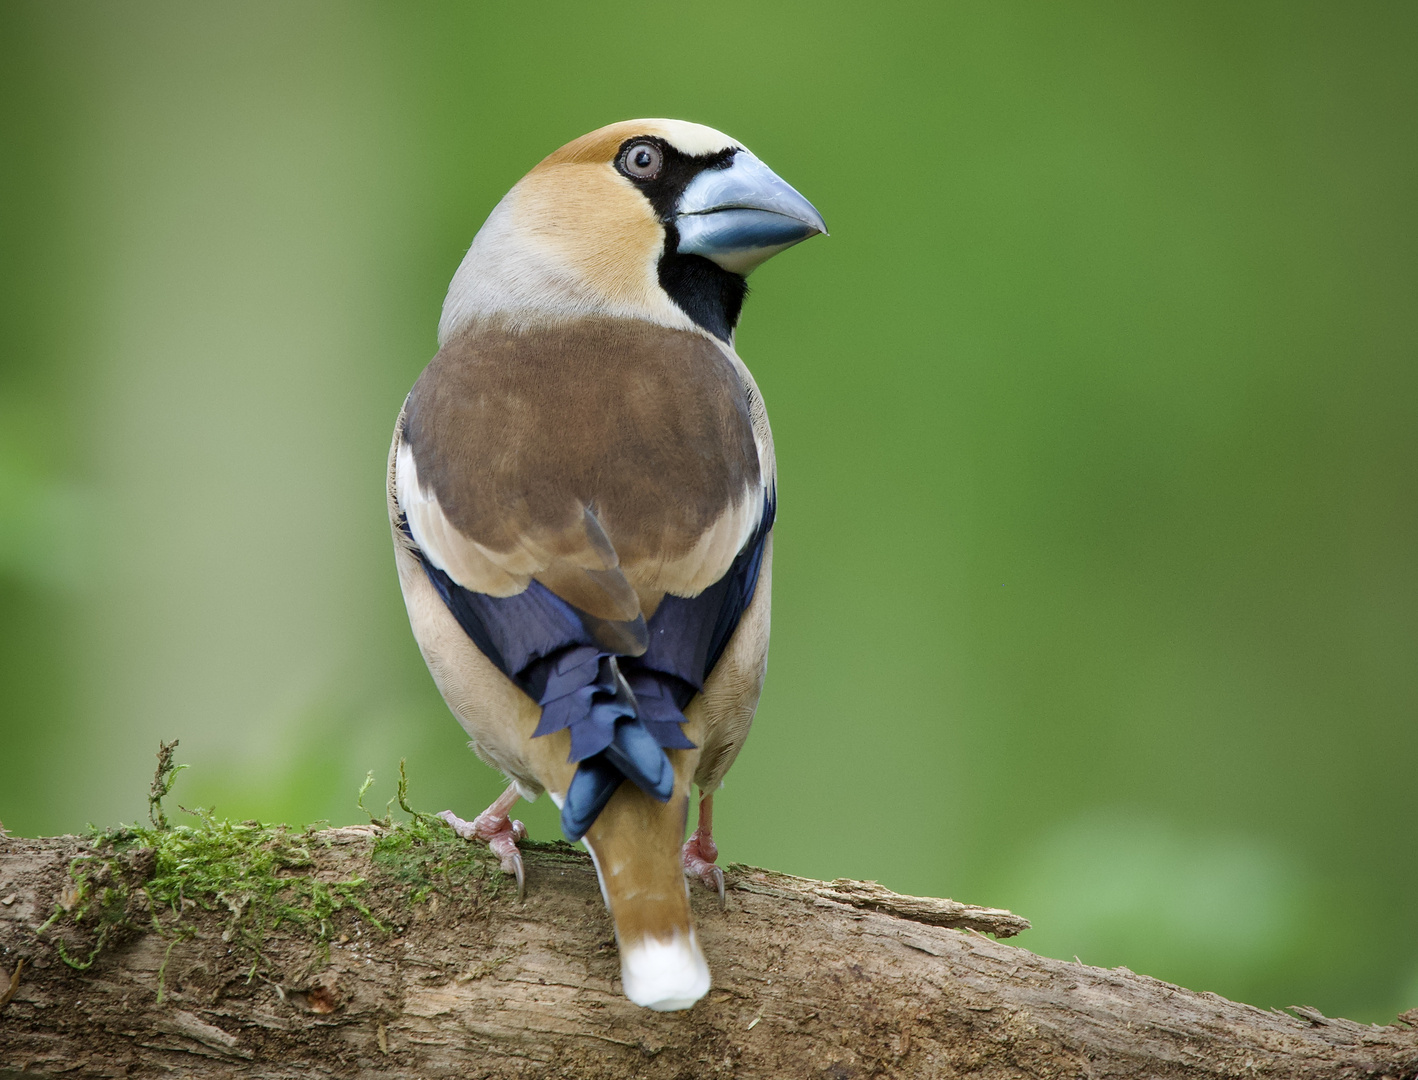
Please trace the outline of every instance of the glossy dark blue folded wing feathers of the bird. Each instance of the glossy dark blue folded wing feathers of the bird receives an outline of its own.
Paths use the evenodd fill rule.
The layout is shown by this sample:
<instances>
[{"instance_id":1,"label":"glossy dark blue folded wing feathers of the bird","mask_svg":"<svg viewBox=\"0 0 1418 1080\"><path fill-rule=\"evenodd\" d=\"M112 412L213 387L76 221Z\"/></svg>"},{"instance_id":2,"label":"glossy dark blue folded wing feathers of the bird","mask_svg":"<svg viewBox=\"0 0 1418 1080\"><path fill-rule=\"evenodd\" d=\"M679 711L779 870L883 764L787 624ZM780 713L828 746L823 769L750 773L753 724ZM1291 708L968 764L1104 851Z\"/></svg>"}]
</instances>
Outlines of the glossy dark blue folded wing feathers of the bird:
<instances>
[{"instance_id":1,"label":"glossy dark blue folded wing feathers of the bird","mask_svg":"<svg viewBox=\"0 0 1418 1080\"><path fill-rule=\"evenodd\" d=\"M696 597L666 595L648 622L640 656L605 649L597 622L539 581L515 597L489 597L455 583L418 551L428 580L458 625L498 669L542 706L536 734L571 733L576 775L562 805L562 832L579 840L621 781L666 801L674 770L665 748L693 746L683 709L703 689L753 601L776 516L763 517L722 578ZM400 529L413 540L408 523Z\"/></svg>"}]
</instances>

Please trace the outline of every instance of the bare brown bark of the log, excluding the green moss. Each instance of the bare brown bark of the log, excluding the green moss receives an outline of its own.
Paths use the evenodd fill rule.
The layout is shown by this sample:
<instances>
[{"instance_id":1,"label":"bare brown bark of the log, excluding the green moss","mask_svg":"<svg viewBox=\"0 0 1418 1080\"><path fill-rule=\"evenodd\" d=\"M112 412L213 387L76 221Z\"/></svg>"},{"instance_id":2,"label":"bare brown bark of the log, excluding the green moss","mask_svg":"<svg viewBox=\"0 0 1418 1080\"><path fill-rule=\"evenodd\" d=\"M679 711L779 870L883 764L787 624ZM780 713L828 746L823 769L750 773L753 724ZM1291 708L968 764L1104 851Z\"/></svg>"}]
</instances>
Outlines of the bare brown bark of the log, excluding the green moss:
<instances>
[{"instance_id":1,"label":"bare brown bark of the log, excluding the green moss","mask_svg":"<svg viewBox=\"0 0 1418 1080\"><path fill-rule=\"evenodd\" d=\"M380 835L316 838L316 876L369 880L367 914L337 913L323 947L282 924L255 952L187 901L130 913L86 971L57 943L85 960L92 928L35 931L89 843L0 839L0 1077L1418 1076L1418 1011L1263 1012L978 933L1028 926L1007 911L753 867L730 867L726 910L695 890L709 996L652 1013L620 994L584 855L529 845L520 904L491 870L411 903L370 862Z\"/></svg>"}]
</instances>

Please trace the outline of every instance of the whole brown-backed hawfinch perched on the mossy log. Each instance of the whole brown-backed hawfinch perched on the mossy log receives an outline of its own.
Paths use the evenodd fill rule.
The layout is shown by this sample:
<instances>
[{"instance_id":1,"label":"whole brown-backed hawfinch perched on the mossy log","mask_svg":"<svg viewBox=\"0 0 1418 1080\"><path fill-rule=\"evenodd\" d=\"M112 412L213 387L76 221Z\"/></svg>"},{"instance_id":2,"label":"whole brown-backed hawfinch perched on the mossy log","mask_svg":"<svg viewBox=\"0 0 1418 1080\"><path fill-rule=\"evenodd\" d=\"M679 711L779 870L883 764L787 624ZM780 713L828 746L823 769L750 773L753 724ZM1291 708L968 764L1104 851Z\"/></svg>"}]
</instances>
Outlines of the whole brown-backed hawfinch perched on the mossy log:
<instances>
[{"instance_id":1,"label":"whole brown-backed hawfinch perched on the mossy log","mask_svg":"<svg viewBox=\"0 0 1418 1080\"><path fill-rule=\"evenodd\" d=\"M520 897L510 812L546 792L591 855L625 996L662 1012L710 986L689 880L723 903L713 797L767 670L777 466L735 329L749 274L818 234L813 204L722 132L590 132L488 215L394 425L410 625L509 781L472 821L440 816Z\"/></svg>"}]
</instances>

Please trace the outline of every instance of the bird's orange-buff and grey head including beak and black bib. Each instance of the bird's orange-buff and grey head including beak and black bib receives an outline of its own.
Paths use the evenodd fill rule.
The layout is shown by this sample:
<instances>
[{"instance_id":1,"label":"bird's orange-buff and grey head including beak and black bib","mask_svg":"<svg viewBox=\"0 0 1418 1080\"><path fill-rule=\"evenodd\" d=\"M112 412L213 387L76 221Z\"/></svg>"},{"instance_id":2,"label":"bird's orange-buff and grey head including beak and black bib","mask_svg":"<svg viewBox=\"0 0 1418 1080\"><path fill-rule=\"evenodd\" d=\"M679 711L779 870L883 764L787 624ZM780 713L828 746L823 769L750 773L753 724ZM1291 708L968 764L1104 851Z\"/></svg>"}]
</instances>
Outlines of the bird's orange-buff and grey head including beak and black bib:
<instances>
[{"instance_id":1,"label":"bird's orange-buff and grey head including beak and black bib","mask_svg":"<svg viewBox=\"0 0 1418 1080\"><path fill-rule=\"evenodd\" d=\"M482 319L586 316L730 340L747 275L818 232L813 204L722 132L613 123L543 159L498 203L452 279L438 340Z\"/></svg>"}]
</instances>

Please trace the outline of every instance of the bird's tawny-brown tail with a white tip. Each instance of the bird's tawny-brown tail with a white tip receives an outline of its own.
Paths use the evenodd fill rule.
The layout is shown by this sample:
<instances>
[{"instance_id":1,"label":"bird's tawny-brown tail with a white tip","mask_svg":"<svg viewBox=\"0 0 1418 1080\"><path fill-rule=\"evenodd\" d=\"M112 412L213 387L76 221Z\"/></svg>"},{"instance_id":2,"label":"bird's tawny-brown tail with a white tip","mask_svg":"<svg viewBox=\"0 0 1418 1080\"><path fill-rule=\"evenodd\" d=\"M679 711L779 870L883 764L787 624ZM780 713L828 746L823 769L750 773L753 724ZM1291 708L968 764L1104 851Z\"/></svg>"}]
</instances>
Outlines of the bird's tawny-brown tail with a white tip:
<instances>
[{"instance_id":1,"label":"bird's tawny-brown tail with a white tip","mask_svg":"<svg viewBox=\"0 0 1418 1080\"><path fill-rule=\"evenodd\" d=\"M679 855L692 771L675 770L668 802L621 784L586 833L615 923L625 996L659 1012L688 1009L709 991Z\"/></svg>"}]
</instances>

